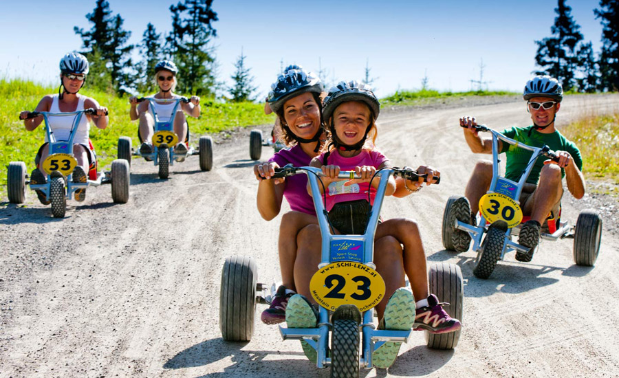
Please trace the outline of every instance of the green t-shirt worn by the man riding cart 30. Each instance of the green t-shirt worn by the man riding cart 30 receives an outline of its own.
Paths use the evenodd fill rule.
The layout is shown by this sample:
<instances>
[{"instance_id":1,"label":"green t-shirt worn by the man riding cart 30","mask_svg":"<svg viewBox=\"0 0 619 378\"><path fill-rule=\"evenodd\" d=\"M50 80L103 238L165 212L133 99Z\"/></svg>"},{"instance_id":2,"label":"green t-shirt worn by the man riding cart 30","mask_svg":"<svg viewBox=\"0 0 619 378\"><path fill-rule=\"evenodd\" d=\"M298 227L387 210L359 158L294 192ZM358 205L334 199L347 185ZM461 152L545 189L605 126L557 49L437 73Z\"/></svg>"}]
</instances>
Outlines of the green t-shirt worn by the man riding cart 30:
<instances>
[{"instance_id":1,"label":"green t-shirt worn by the man riding cart 30","mask_svg":"<svg viewBox=\"0 0 619 378\"><path fill-rule=\"evenodd\" d=\"M552 134L540 133L533 129L533 125L527 127L512 127L511 129L503 130L502 134L508 138L522 142L532 147L542 147L544 144L550 147L552 151L567 151L569 155L572 155L574 163L579 170L583 169L583 157L580 156L580 150L576 147L572 141L567 140L561 133L555 131ZM529 159L532 152L523 148L513 146L512 144L503 142L503 148L500 153L506 153L507 164L505 177L512 181L518 181L523 173L523 170L527 168ZM527 182L530 184L537 184L539 180L539 173L544 166L544 162L547 157L538 157L531 174L529 175ZM565 176L565 170L561 169L561 177Z\"/></svg>"}]
</instances>

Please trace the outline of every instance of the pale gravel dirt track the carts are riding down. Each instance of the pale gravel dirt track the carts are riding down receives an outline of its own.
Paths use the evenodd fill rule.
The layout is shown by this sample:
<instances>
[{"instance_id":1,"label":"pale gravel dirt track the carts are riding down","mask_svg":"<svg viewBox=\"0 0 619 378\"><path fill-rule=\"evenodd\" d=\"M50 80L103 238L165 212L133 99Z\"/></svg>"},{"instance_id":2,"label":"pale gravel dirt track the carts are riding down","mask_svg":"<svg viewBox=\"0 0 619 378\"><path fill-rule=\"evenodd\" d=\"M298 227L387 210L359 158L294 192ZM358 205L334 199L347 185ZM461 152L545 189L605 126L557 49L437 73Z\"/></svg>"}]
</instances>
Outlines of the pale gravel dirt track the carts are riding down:
<instances>
[{"instance_id":1,"label":"pale gravel dirt track the carts are riding down","mask_svg":"<svg viewBox=\"0 0 619 378\"><path fill-rule=\"evenodd\" d=\"M567 98L558 117L617 111L619 96ZM475 161L457 127L476 115L495 129L528 124L523 102L459 109L413 109L380 118L378 144L395 165L430 164L440 186L388 199L383 214L420 223L428 260L460 265L464 329L454 351L432 351L423 333L402 346L389 370L362 377L619 376L618 236L602 233L595 267L578 267L572 240L545 241L532 263L513 254L489 280L473 276L473 252L442 250L446 199L464 193ZM266 129L265 129L266 130ZM158 179L134 160L130 200L109 186L69 202L65 219L29 192L23 207L0 208L0 377L328 377L259 321L246 344L219 333L219 280L226 256L257 258L259 281L278 275L279 217L255 208L247 135L215 146L215 164L197 157ZM263 148L263 159L271 151ZM28 165L30 168L30 164ZM569 194L566 194L569 195ZM564 201L567 219L578 210ZM609 220L605 219L606 222Z\"/></svg>"}]
</instances>

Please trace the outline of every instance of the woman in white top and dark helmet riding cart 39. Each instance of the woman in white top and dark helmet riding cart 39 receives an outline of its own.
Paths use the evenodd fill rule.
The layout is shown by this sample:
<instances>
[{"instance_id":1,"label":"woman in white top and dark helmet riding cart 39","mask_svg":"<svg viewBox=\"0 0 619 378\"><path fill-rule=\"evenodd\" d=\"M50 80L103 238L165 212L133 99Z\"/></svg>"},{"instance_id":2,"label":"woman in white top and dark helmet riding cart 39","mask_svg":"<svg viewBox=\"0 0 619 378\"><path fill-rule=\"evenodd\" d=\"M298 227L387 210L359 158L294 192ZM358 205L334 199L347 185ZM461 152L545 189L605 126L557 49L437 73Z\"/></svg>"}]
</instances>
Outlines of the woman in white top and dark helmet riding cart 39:
<instances>
[{"instance_id":1,"label":"woman in white top and dark helmet riding cart 39","mask_svg":"<svg viewBox=\"0 0 619 378\"><path fill-rule=\"evenodd\" d=\"M178 69L176 65L170 60L162 60L155 65L155 82L159 86L159 93L156 93L153 98L179 98L175 95L174 89L176 88L176 74ZM187 146L185 140L188 133L187 121L185 113L191 115L193 118L198 118L200 115L200 98L198 96L191 96L190 102L187 104L181 102L180 107L177 108L174 118L174 132L178 135L178 144L174 148L174 153L177 155L185 155L187 153ZM151 113L150 102L144 101L138 104L138 98L131 96L129 98L131 109L129 110L129 117L132 121L140 120L140 126L138 129L138 135L142 146L140 146L140 153L152 153L153 145L151 139L153 138L155 117ZM160 120L169 120L172 118L172 109L174 108L174 102L170 103L158 103L155 102L153 107L157 112L157 116Z\"/></svg>"}]
</instances>

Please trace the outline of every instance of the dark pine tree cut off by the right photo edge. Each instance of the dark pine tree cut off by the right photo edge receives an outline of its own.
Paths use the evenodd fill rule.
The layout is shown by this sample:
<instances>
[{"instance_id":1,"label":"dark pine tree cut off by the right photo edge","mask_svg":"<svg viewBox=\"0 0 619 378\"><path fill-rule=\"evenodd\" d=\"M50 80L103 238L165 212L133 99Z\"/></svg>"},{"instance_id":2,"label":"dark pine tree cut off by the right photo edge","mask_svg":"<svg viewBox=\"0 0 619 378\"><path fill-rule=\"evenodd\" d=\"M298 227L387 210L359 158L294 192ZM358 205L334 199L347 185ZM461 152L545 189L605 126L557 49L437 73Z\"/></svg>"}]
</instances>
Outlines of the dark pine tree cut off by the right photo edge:
<instances>
[{"instance_id":1,"label":"dark pine tree cut off by the right photo edge","mask_svg":"<svg viewBox=\"0 0 619 378\"><path fill-rule=\"evenodd\" d=\"M602 23L600 89L619 91L619 1L600 0L600 9L594 13Z\"/></svg>"}]
</instances>

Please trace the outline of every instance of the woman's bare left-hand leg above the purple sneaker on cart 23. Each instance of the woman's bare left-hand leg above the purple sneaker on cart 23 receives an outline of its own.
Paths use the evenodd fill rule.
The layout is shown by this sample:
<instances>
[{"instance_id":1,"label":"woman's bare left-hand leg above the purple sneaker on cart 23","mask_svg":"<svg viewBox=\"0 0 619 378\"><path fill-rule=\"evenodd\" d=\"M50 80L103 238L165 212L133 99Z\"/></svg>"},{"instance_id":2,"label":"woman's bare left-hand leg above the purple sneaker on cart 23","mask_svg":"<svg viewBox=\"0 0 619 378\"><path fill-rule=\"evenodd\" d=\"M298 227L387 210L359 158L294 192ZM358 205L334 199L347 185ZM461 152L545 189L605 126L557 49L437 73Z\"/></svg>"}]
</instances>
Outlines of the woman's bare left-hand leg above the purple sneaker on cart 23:
<instances>
[{"instance_id":1,"label":"woman's bare left-hand leg above the purple sneaker on cart 23","mask_svg":"<svg viewBox=\"0 0 619 378\"><path fill-rule=\"evenodd\" d=\"M291 211L283 214L279 225L279 269L281 270L282 285L287 289L295 290L294 285L294 262L296 260L296 239L303 227L316 224L316 216L303 212ZM318 230L318 236L321 232ZM320 243L318 243L320 248ZM320 260L318 260L320 262ZM318 264L316 264L318 265ZM309 283L308 283L309 285Z\"/></svg>"}]
</instances>

